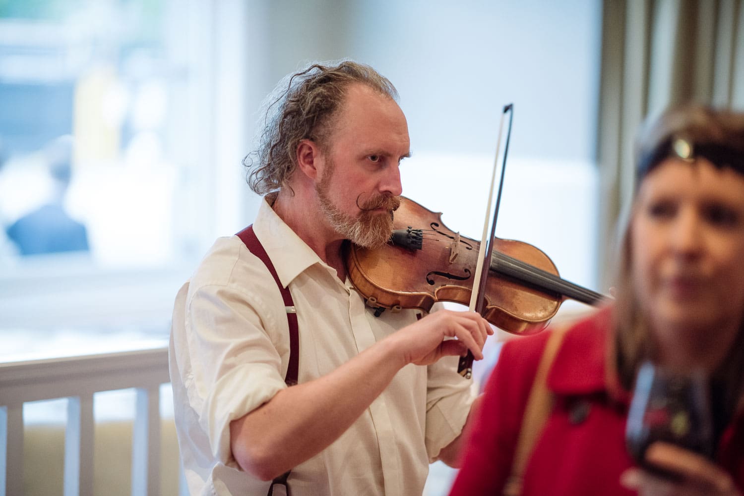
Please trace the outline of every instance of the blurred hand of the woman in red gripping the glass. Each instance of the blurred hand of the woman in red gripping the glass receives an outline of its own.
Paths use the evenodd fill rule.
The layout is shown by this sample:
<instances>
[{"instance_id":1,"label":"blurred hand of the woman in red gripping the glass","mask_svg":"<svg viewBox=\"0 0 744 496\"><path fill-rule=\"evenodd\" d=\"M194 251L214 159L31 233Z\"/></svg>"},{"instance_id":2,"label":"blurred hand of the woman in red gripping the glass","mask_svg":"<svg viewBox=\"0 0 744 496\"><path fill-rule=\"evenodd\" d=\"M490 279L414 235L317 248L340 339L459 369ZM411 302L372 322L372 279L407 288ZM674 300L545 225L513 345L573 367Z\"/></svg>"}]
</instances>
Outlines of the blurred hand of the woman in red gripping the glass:
<instances>
[{"instance_id":1,"label":"blurred hand of the woman in red gripping the glass","mask_svg":"<svg viewBox=\"0 0 744 496\"><path fill-rule=\"evenodd\" d=\"M642 468L629 468L623 472L620 483L637 490L639 496L742 496L722 468L679 446L654 442L646 451L646 460L680 474L682 480L672 481Z\"/></svg>"}]
</instances>

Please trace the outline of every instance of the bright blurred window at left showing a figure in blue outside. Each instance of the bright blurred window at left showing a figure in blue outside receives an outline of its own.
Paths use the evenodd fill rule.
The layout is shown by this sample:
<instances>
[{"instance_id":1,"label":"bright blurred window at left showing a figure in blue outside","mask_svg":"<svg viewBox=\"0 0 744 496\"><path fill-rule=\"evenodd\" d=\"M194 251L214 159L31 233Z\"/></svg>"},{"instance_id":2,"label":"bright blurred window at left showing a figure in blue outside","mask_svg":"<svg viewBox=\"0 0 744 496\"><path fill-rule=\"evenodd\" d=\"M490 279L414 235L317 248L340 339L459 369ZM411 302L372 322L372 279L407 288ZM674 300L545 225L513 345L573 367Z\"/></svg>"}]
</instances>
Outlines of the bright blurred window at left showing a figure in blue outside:
<instances>
[{"instance_id":1,"label":"bright blurred window at left showing a figure in blue outside","mask_svg":"<svg viewBox=\"0 0 744 496\"><path fill-rule=\"evenodd\" d=\"M2 256L158 265L187 144L167 2L0 2ZM147 239L147 242L143 242Z\"/></svg>"}]
</instances>

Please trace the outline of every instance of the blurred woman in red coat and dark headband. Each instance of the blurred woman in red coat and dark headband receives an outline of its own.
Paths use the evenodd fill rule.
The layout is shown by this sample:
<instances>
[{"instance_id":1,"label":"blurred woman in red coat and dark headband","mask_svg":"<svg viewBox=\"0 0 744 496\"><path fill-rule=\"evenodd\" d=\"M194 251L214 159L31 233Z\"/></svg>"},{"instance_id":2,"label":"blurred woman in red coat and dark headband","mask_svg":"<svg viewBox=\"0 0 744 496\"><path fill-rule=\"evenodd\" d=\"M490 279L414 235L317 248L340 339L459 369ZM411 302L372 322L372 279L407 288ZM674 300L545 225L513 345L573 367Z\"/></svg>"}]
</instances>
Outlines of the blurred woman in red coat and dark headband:
<instances>
[{"instance_id":1,"label":"blurred woman in red coat and dark headband","mask_svg":"<svg viewBox=\"0 0 744 496\"><path fill-rule=\"evenodd\" d=\"M744 114L665 113L642 132L636 169L616 302L504 344L452 495L742 495ZM626 448L644 361L710 378L713 459L645 451L644 466L677 477Z\"/></svg>"}]
</instances>

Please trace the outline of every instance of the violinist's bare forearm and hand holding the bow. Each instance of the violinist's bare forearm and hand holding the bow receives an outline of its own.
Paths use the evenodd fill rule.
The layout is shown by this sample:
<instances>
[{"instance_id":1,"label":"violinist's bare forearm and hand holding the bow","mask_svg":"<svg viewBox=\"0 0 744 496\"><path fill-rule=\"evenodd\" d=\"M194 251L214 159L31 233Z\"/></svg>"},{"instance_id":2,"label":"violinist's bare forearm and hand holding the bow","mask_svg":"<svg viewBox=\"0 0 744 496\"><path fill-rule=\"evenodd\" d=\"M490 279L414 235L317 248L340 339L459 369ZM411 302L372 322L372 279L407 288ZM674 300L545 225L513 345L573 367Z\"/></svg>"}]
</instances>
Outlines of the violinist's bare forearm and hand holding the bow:
<instances>
[{"instance_id":1,"label":"violinist's bare forearm and hand holding the bow","mask_svg":"<svg viewBox=\"0 0 744 496\"><path fill-rule=\"evenodd\" d=\"M480 359L491 333L487 321L473 312L434 312L326 376L280 390L232 421L233 457L243 470L272 480L338 439L406 364L428 365L466 350Z\"/></svg>"}]
</instances>

